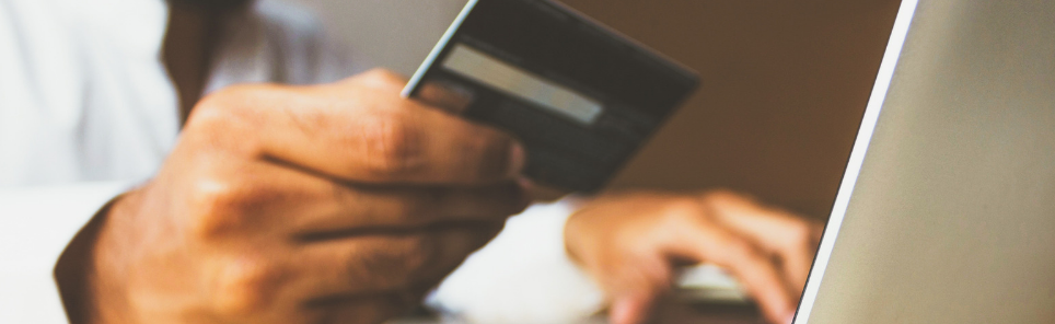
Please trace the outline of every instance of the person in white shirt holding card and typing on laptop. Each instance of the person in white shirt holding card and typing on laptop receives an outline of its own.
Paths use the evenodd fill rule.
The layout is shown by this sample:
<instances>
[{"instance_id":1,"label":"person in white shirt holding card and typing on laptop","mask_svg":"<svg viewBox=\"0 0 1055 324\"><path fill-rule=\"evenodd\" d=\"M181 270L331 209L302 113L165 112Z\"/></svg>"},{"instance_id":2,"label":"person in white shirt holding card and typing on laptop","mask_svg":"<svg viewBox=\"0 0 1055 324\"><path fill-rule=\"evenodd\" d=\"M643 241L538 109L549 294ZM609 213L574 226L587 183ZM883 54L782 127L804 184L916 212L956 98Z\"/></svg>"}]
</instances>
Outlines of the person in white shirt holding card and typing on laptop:
<instances>
[{"instance_id":1,"label":"person in white shirt holding card and typing on laptop","mask_svg":"<svg viewBox=\"0 0 1055 324\"><path fill-rule=\"evenodd\" d=\"M503 230L529 152L442 89L399 97L406 79L276 1L2 0L0 18L3 323L380 323L533 219L548 234L522 240L556 242L622 324L700 262L786 321L812 259L819 225L727 192L561 201Z\"/></svg>"}]
</instances>

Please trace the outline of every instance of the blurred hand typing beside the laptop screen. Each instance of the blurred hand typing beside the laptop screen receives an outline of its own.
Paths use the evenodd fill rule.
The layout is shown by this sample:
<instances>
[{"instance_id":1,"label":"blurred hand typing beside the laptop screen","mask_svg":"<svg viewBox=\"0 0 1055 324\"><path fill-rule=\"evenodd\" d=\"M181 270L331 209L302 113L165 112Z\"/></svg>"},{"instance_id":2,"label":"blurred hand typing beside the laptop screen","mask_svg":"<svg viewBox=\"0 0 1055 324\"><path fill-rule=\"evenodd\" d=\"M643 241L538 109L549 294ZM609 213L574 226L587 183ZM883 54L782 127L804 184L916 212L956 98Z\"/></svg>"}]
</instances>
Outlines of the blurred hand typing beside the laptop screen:
<instances>
[{"instance_id":1,"label":"blurred hand typing beside the laptop screen","mask_svg":"<svg viewBox=\"0 0 1055 324\"><path fill-rule=\"evenodd\" d=\"M716 190L601 196L568 219L569 255L605 290L615 324L641 323L671 289L676 267L721 266L772 323L789 323L822 224Z\"/></svg>"}]
</instances>

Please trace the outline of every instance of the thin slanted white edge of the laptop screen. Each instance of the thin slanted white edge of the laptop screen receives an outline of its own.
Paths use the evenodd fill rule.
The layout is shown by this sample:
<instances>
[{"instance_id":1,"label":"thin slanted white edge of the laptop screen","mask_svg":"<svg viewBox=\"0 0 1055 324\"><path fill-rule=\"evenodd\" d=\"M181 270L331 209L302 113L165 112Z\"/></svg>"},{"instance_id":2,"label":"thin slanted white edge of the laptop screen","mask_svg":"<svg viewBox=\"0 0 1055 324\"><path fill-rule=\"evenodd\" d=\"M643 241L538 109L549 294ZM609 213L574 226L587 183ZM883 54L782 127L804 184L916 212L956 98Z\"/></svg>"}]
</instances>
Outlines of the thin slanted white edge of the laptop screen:
<instances>
[{"instance_id":1,"label":"thin slanted white edge of the laptop screen","mask_svg":"<svg viewBox=\"0 0 1055 324\"><path fill-rule=\"evenodd\" d=\"M872 85L872 93L868 99L868 105L865 107L865 117L857 132L854 149L850 151L849 162L843 174L843 182L839 184L835 205L832 207L832 215L828 217L827 225L824 229L824 235L821 238L816 257L813 259L813 268L810 270L805 289L802 291L802 300L799 302L799 309L792 321L793 324L807 324L810 320L813 303L816 301L816 294L821 288L821 281L824 278L824 270L827 268L828 261L832 257L832 251L835 247L835 240L838 238L839 227L842 227L843 219L846 217L846 209L854 194L854 187L857 184L857 176L860 174L861 165L865 163L865 154L872 139L872 132L876 130L879 113L883 107L883 102L886 100L886 91L890 89L890 82L894 77L894 68L897 66L897 60L901 57L902 47L905 45L905 37L908 35L908 27L916 12L917 2L918 0L903 0L901 7L897 9L894 27L890 34L890 40L886 43L886 51L883 53L883 60L879 66L879 73L876 77L874 85Z\"/></svg>"}]
</instances>

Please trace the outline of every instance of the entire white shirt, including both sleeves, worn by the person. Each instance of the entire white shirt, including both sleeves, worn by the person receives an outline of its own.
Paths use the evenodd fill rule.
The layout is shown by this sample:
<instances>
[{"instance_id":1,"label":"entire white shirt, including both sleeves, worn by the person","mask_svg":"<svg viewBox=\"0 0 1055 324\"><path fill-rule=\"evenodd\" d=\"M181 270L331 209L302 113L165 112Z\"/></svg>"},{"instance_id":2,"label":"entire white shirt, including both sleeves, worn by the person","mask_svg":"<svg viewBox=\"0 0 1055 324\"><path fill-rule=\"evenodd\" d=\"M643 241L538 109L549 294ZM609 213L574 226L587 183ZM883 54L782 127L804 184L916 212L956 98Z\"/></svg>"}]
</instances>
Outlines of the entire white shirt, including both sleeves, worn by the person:
<instances>
[{"instance_id":1,"label":"entire white shirt, including both sleeves, worn by the person","mask_svg":"<svg viewBox=\"0 0 1055 324\"><path fill-rule=\"evenodd\" d=\"M53 270L101 206L148 180L178 137L160 59L163 0L0 0L0 323L66 323ZM224 32L207 92L361 70L315 20L258 3ZM600 291L564 255L563 204L511 219L429 303L477 321L556 322Z\"/></svg>"}]
</instances>

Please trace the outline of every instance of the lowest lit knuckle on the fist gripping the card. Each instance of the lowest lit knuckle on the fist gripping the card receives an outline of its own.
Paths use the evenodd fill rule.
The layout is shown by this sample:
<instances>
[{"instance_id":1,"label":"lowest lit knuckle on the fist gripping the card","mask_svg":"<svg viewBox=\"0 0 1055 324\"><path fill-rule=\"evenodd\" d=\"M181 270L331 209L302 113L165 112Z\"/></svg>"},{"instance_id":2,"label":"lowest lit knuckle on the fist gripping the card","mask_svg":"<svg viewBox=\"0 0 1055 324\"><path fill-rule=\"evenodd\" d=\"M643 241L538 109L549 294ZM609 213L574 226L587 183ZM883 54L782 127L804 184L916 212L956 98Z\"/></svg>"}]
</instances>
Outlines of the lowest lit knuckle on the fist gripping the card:
<instances>
[{"instance_id":1,"label":"lowest lit knuckle on the fist gripping the card","mask_svg":"<svg viewBox=\"0 0 1055 324\"><path fill-rule=\"evenodd\" d=\"M246 315L267 310L286 280L282 269L262 258L237 257L219 269L216 311Z\"/></svg>"}]
</instances>

